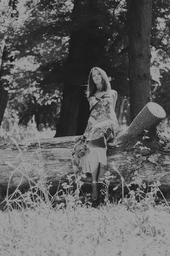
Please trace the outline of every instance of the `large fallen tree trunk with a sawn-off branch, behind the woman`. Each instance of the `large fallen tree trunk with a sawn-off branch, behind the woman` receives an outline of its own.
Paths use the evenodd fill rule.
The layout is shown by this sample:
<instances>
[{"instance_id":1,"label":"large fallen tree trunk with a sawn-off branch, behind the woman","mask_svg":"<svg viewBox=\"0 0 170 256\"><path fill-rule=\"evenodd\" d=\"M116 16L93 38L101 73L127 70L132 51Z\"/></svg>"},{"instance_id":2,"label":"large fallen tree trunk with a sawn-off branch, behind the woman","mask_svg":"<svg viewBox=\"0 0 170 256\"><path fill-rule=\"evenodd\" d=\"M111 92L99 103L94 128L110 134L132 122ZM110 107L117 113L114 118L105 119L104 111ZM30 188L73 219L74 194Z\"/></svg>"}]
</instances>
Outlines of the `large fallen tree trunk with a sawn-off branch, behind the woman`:
<instances>
[{"instance_id":1,"label":"large fallen tree trunk with a sawn-off branch, behind the woman","mask_svg":"<svg viewBox=\"0 0 170 256\"><path fill-rule=\"evenodd\" d=\"M126 183L130 183L134 172L138 171L147 182L159 180L162 191L170 190L170 139L156 129L164 117L163 108L150 102L126 132L120 132L116 140L108 142L108 169L115 176L111 186L120 184L121 175ZM0 143L1 193L6 193L8 185L10 189L18 185L20 189L28 189L29 182L46 179L48 183L52 182L50 193L54 194L59 182L67 181L67 175L77 169L71 149L78 138ZM89 192L91 177L82 178L82 181L82 190Z\"/></svg>"}]
</instances>

